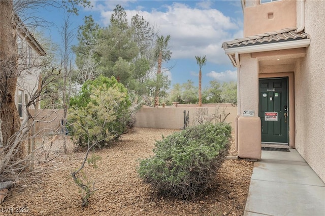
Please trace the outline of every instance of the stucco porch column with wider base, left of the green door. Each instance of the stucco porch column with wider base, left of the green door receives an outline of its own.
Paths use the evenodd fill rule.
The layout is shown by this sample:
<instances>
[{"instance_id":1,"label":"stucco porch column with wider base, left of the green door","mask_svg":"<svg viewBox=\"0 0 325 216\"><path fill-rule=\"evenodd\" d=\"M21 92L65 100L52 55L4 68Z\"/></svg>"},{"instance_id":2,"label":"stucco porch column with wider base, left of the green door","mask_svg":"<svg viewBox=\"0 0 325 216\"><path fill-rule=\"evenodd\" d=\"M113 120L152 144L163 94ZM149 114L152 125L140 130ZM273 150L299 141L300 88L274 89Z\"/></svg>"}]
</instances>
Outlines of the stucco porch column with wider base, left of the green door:
<instances>
[{"instance_id":1,"label":"stucco porch column with wider base, left of the green door","mask_svg":"<svg viewBox=\"0 0 325 216\"><path fill-rule=\"evenodd\" d=\"M240 55L240 117L238 118L238 156L261 159L261 119L258 117L258 60ZM244 114L253 111L254 114ZM250 112L251 113L251 112ZM247 117L248 116L248 117Z\"/></svg>"}]
</instances>

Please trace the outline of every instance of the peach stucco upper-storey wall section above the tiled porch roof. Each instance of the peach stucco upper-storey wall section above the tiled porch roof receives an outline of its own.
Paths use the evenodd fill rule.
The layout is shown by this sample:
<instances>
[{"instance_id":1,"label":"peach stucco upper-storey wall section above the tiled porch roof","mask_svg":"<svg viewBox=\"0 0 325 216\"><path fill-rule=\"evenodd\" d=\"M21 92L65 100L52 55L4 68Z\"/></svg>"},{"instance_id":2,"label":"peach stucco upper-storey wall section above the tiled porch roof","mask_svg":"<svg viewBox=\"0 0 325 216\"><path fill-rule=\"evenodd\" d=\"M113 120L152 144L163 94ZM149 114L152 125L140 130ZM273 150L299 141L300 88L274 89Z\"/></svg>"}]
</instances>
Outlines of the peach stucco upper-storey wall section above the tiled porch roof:
<instances>
[{"instance_id":1,"label":"peach stucco upper-storey wall section above the tiled porch roof","mask_svg":"<svg viewBox=\"0 0 325 216\"><path fill-rule=\"evenodd\" d=\"M260 4L260 0L246 1L244 8L244 37L296 27L296 1L281 0Z\"/></svg>"}]
</instances>

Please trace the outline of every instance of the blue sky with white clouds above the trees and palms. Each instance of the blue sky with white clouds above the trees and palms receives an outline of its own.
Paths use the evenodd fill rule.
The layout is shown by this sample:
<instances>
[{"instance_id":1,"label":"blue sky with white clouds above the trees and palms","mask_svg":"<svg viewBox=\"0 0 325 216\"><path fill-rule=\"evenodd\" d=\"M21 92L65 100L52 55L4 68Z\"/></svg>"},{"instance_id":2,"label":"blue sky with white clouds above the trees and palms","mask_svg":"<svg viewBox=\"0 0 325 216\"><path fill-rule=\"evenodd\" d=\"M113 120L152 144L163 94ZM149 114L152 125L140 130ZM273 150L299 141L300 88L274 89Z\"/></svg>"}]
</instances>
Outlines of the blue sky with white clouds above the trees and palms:
<instances>
[{"instance_id":1,"label":"blue sky with white clouds above the trees and palms","mask_svg":"<svg viewBox=\"0 0 325 216\"><path fill-rule=\"evenodd\" d=\"M203 87L210 80L236 81L236 68L224 54L223 41L240 38L243 35L243 14L241 3L236 1L91 1L93 7L80 8L79 16L72 16L71 28L75 34L79 25L84 23L84 16L92 15L100 26L108 26L113 9L121 5L129 20L135 14L143 16L159 30L159 35L171 35L171 60L166 67L174 66L165 73L172 85L184 83L188 79L198 86L199 66L195 56L206 56L207 63L202 67ZM58 28L62 25L64 12L55 8L39 11L47 21L53 22L46 29L46 35L57 44L61 37ZM73 41L77 44L77 40Z\"/></svg>"}]
</instances>

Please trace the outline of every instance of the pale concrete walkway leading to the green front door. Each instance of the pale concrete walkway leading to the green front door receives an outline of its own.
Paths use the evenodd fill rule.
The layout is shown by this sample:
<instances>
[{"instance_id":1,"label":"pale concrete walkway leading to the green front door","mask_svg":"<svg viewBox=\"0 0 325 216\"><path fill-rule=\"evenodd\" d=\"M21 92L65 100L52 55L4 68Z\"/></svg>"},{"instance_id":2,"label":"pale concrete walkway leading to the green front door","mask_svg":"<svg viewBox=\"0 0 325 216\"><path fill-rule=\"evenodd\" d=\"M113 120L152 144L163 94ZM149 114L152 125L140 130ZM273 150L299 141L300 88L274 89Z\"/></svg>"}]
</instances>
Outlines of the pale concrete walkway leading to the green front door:
<instances>
[{"instance_id":1,"label":"pale concrete walkway leading to the green front door","mask_svg":"<svg viewBox=\"0 0 325 216\"><path fill-rule=\"evenodd\" d=\"M325 184L300 156L262 151L254 163L245 216L325 215Z\"/></svg>"}]
</instances>

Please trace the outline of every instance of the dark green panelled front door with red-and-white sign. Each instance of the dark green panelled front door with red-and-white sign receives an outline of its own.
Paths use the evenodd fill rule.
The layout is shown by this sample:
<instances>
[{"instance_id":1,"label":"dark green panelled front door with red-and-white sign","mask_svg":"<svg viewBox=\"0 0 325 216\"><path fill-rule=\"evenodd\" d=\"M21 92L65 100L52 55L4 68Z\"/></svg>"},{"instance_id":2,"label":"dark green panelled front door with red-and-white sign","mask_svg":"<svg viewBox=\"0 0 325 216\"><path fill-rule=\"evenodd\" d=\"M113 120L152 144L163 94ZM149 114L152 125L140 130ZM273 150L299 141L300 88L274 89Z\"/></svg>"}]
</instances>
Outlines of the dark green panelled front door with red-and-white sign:
<instances>
[{"instance_id":1,"label":"dark green panelled front door with red-and-white sign","mask_svg":"<svg viewBox=\"0 0 325 216\"><path fill-rule=\"evenodd\" d=\"M262 142L288 143L287 78L259 79Z\"/></svg>"}]
</instances>

